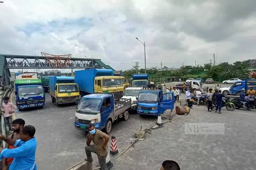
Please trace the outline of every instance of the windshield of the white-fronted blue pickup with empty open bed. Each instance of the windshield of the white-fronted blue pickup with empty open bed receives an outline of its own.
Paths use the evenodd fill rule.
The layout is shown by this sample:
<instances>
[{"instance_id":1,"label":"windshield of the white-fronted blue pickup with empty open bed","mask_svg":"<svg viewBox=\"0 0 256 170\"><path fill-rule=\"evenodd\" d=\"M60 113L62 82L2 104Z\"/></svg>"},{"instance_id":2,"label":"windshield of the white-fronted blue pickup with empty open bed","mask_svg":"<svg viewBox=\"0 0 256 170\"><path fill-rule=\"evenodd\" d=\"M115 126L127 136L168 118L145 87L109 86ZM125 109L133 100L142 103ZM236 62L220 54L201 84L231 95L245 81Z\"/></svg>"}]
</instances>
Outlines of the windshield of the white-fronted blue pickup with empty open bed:
<instances>
[{"instance_id":1,"label":"windshield of the white-fronted blue pickup with empty open bed","mask_svg":"<svg viewBox=\"0 0 256 170\"><path fill-rule=\"evenodd\" d=\"M83 97L78 103L77 112L78 113L83 113L83 111L98 112L101 100L102 99L93 99L93 98Z\"/></svg>"}]
</instances>

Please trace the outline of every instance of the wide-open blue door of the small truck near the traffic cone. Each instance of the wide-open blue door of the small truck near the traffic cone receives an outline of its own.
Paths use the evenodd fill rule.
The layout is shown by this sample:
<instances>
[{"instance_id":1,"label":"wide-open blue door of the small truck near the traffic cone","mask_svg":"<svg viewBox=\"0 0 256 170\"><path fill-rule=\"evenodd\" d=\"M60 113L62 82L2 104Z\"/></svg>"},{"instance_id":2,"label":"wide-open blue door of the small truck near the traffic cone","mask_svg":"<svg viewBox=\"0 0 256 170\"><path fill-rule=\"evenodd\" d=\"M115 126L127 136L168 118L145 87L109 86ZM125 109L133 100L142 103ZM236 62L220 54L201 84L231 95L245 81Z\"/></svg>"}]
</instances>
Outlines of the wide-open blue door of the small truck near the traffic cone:
<instances>
[{"instance_id":1,"label":"wide-open blue door of the small truck near the traffic cone","mask_svg":"<svg viewBox=\"0 0 256 170\"><path fill-rule=\"evenodd\" d=\"M174 94L164 93L158 102L158 113L162 114L166 109L174 109Z\"/></svg>"}]
</instances>

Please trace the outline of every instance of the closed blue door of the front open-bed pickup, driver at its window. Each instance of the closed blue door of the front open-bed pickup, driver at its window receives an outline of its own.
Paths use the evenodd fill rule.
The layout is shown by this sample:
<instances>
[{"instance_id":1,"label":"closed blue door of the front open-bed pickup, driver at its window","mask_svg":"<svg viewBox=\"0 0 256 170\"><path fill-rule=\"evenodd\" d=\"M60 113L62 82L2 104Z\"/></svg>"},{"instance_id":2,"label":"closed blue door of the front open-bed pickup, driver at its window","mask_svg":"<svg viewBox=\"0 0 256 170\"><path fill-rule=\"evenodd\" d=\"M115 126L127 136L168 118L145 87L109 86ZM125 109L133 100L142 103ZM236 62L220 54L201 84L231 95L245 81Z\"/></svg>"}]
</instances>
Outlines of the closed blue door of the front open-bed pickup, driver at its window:
<instances>
[{"instance_id":1,"label":"closed blue door of the front open-bed pickup, driver at its window","mask_svg":"<svg viewBox=\"0 0 256 170\"><path fill-rule=\"evenodd\" d=\"M109 118L109 115L114 111L114 101L113 98L107 97L103 100L101 107L101 126L105 127L105 124Z\"/></svg>"}]
</instances>

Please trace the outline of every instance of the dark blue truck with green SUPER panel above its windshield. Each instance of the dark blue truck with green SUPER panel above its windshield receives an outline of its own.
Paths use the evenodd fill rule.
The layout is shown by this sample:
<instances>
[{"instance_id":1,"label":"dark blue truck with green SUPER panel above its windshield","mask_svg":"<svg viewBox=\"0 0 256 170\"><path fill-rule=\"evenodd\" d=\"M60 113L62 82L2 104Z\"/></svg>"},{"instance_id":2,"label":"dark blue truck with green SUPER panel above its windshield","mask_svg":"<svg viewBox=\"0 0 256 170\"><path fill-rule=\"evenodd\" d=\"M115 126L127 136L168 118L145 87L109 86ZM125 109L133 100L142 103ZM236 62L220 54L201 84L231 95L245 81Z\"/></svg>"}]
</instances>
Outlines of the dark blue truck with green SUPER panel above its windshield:
<instances>
[{"instance_id":1,"label":"dark blue truck with green SUPER panel above its windshield","mask_svg":"<svg viewBox=\"0 0 256 170\"><path fill-rule=\"evenodd\" d=\"M41 79L15 79L14 88L18 110L45 105L45 92Z\"/></svg>"}]
</instances>

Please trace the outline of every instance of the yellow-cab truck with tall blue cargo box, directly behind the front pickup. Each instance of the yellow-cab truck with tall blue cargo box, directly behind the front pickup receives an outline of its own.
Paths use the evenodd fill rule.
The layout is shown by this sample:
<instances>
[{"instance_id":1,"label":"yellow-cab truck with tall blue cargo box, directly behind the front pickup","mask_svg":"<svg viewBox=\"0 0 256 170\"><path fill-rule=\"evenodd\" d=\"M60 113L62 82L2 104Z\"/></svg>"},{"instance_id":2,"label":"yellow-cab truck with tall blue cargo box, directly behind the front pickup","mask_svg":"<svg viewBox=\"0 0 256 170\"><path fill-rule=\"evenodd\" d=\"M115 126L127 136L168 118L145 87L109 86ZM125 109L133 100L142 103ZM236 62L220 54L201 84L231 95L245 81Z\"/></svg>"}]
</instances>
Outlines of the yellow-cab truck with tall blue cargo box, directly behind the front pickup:
<instances>
[{"instance_id":1,"label":"yellow-cab truck with tall blue cargo box, directly behind the front pickup","mask_svg":"<svg viewBox=\"0 0 256 170\"><path fill-rule=\"evenodd\" d=\"M115 99L123 97L122 77L113 76L110 69L87 69L75 72L81 96L93 93L113 93Z\"/></svg>"}]
</instances>

